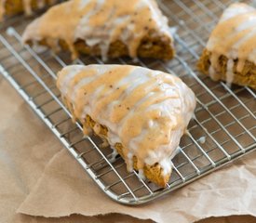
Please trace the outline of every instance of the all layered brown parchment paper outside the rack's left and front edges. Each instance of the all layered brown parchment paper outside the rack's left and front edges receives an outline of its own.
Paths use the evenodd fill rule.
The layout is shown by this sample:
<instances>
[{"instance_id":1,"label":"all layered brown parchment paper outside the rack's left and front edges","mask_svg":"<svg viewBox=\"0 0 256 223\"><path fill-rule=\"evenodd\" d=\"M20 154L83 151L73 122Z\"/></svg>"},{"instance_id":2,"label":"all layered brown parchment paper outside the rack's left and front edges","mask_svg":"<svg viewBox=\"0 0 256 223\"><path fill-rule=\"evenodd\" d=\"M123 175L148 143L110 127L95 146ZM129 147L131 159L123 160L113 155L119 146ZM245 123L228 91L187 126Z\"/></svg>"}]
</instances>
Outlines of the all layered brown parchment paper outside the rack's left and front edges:
<instances>
[{"instance_id":1,"label":"all layered brown parchment paper outside the rack's left and front edges","mask_svg":"<svg viewBox=\"0 0 256 223\"><path fill-rule=\"evenodd\" d=\"M130 217L135 216L182 223L209 216L256 215L256 152L153 203L129 207L111 201L2 79L0 222L136 222ZM109 213L125 215L95 217ZM232 222L245 222L243 216L239 219L243 220Z\"/></svg>"}]
</instances>

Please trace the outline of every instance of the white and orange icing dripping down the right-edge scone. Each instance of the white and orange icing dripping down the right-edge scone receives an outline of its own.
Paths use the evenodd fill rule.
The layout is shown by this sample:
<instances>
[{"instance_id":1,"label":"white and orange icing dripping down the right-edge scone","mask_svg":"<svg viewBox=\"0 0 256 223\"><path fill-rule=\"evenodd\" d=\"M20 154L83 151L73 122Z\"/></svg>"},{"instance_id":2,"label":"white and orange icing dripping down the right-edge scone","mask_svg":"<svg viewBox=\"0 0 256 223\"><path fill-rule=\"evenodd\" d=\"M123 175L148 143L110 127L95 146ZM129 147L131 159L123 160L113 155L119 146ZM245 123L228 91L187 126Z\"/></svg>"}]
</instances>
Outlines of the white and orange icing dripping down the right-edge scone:
<instances>
[{"instance_id":1,"label":"white and orange icing dripping down the right-edge scone","mask_svg":"<svg viewBox=\"0 0 256 223\"><path fill-rule=\"evenodd\" d=\"M238 59L237 72L243 71L246 60L256 63L256 9L244 3L226 8L209 37L207 49L211 53L210 77L220 79L219 58L224 55L228 59L226 83L230 85L234 78L235 59Z\"/></svg>"}]
</instances>

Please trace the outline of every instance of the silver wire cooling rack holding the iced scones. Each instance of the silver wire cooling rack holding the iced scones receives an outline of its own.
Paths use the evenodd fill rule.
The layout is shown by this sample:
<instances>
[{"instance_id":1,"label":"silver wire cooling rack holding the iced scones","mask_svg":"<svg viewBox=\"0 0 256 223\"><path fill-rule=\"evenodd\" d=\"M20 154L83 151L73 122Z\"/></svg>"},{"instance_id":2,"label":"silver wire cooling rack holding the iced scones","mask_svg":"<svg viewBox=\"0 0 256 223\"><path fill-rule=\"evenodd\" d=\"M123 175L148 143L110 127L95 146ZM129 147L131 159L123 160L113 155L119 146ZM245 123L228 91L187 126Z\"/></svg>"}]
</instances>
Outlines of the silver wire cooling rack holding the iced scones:
<instances>
[{"instance_id":1,"label":"silver wire cooling rack holding the iced scones","mask_svg":"<svg viewBox=\"0 0 256 223\"><path fill-rule=\"evenodd\" d=\"M168 16L170 26L177 27L177 56L168 62L150 59L134 62L124 58L109 60L108 63L135 64L164 72L172 70L195 92L195 119L182 137L181 150L173 159L173 173L166 189L141 180L135 171L128 173L120 157L113 157L109 148L101 148L99 138L84 138L81 125L72 122L55 85L56 72L71 63L68 55L57 56L50 51L36 54L31 47L21 46L20 33L27 23L25 19L16 20L15 28L9 27L7 33L3 31L6 27L1 28L0 72L101 190L119 203L149 202L256 149L255 91L248 87L233 85L229 88L222 82L214 83L195 68L210 31L231 1L158 2ZM252 1L248 3L253 5ZM94 57L75 62L103 63Z\"/></svg>"}]
</instances>

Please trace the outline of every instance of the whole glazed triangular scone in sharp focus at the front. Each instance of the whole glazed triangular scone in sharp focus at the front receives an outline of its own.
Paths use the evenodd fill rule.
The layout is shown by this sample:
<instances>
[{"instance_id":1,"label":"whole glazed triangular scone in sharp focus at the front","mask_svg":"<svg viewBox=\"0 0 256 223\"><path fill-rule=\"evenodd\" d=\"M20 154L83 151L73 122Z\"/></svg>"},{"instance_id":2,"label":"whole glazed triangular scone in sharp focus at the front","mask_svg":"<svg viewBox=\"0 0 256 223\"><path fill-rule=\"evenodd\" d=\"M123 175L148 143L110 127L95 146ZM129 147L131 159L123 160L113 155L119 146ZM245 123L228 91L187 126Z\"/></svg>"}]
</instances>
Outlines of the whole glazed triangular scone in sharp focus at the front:
<instances>
[{"instance_id":1,"label":"whole glazed triangular scone in sharp focus at the front","mask_svg":"<svg viewBox=\"0 0 256 223\"><path fill-rule=\"evenodd\" d=\"M129 65L72 65L59 72L57 85L85 133L105 138L128 171L166 186L195 110L195 95L180 78Z\"/></svg>"}]
</instances>

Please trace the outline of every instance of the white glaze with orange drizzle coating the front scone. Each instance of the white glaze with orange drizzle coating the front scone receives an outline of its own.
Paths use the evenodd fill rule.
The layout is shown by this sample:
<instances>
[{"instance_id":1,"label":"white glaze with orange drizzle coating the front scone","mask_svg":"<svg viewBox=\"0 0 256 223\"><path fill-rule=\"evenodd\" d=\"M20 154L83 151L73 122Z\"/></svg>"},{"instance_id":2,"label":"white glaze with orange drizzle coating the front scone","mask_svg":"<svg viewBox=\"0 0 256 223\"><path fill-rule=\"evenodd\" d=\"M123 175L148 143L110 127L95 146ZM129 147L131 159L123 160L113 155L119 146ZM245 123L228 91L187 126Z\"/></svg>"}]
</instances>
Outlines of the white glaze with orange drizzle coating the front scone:
<instances>
[{"instance_id":1,"label":"white glaze with orange drizzle coating the front scone","mask_svg":"<svg viewBox=\"0 0 256 223\"><path fill-rule=\"evenodd\" d=\"M109 80L101 80L108 72L118 72L120 69L123 69L123 76L120 79L116 75L111 83L108 82ZM113 73L109 73L109 75L110 78ZM94 83L97 82L101 85L96 86ZM158 163L162 167L164 175L170 173L171 159L179 150L180 139L195 110L195 95L179 78L168 73L128 65L72 65L59 73L57 85L61 90L61 95L68 98L74 105L74 115L79 120L84 120L85 115L88 114L97 123L108 128L108 139L112 148L117 142L125 145L127 151L124 151L124 154L129 171L133 166L132 157L136 156L138 164L141 163L143 166L143 164ZM89 87L95 85L96 88L84 88L85 85ZM142 98L138 100L134 92L141 85L144 88L141 93ZM120 97L115 98L97 112L99 101L106 100L107 97L113 95L117 88L124 90ZM92 91L90 92L90 90ZM159 94L162 95L162 98L158 100ZM126 111L126 115L116 122L115 115L119 115L118 105L124 105L126 99L131 95L134 95L132 98L136 102L134 101L135 103ZM155 100L157 102L145 107L141 114L139 111L143 108L143 103L151 98L157 98ZM79 112L79 107L83 108L81 112ZM159 113L160 116L156 119L155 116L149 116L149 119L144 117L153 111ZM135 123L133 129L135 132L141 129L140 133L136 137L128 139L124 130L136 115L141 115L139 118L145 121L145 125ZM159 126L163 127L159 128ZM159 131L154 135L152 143L156 142L157 146L150 149L151 141L147 141L145 138L149 136L149 133L154 133L155 129L159 129ZM96 127L95 130L98 131L98 128ZM164 135L166 138L163 138ZM146 143L143 143L145 140Z\"/></svg>"}]
</instances>

